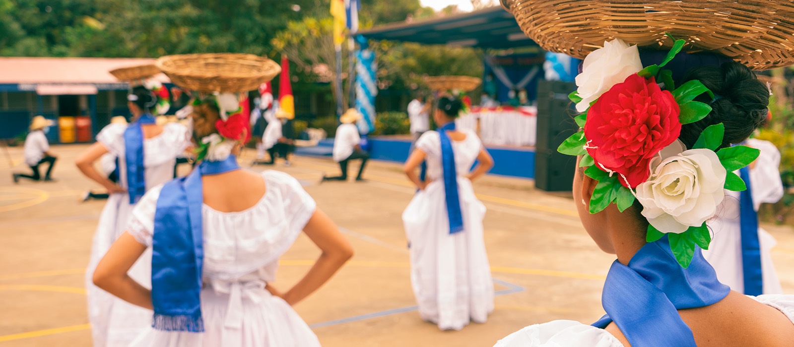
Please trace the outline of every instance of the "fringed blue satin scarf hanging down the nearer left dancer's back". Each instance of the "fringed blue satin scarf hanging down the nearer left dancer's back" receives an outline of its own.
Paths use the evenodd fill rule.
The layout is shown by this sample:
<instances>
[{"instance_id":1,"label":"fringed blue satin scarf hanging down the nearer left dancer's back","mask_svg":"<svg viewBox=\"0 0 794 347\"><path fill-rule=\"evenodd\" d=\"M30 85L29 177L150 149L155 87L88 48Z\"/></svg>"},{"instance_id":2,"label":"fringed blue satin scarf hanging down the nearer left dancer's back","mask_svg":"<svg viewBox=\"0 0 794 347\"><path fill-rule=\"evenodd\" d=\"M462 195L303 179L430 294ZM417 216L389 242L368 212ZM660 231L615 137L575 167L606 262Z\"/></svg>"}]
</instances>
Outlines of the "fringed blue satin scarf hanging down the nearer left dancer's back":
<instances>
[{"instance_id":1,"label":"fringed blue satin scarf hanging down the nearer left dancer's back","mask_svg":"<svg viewBox=\"0 0 794 347\"><path fill-rule=\"evenodd\" d=\"M220 162L202 162L187 177L163 186L157 199L152 237L152 326L156 330L204 331L202 175L238 169L237 158L231 155Z\"/></svg>"}]
</instances>

